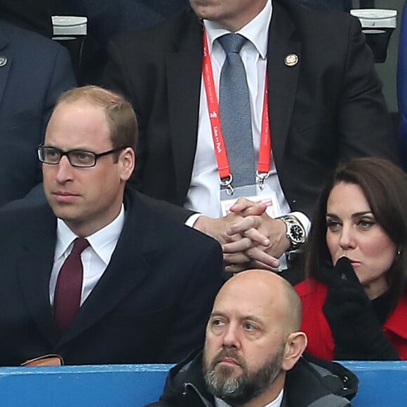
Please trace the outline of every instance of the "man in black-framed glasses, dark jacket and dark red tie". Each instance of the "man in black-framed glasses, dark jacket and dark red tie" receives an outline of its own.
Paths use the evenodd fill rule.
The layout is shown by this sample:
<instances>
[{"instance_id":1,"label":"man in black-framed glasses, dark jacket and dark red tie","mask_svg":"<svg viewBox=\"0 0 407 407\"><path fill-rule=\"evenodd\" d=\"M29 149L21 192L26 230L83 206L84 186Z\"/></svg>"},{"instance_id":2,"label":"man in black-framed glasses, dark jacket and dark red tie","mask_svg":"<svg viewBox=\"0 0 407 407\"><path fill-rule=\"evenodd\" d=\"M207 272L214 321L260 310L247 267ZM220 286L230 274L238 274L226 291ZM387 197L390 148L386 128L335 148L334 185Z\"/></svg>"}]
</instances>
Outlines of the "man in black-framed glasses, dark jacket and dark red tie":
<instances>
[{"instance_id":1,"label":"man in black-framed glasses, dark jacket and dark red tie","mask_svg":"<svg viewBox=\"0 0 407 407\"><path fill-rule=\"evenodd\" d=\"M115 93L88 86L58 101L38 148L48 204L0 211L0 366L45 354L67 364L175 362L201 344L222 253L125 187L137 133ZM65 271L83 238L75 291Z\"/></svg>"}]
</instances>

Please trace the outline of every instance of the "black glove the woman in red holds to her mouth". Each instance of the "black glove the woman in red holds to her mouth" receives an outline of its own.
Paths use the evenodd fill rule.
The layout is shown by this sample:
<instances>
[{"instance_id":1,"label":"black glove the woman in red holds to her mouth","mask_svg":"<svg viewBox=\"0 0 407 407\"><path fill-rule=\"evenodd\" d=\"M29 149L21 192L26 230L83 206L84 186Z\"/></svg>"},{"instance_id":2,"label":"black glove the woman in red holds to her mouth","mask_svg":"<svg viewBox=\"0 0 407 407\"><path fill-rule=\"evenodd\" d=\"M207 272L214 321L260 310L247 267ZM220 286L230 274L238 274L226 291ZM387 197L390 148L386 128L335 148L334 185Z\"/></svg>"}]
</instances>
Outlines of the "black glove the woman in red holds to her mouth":
<instances>
[{"instance_id":1,"label":"black glove the woman in red holds to her mouth","mask_svg":"<svg viewBox=\"0 0 407 407\"><path fill-rule=\"evenodd\" d=\"M321 278L328 286L323 313L335 342L335 359L398 360L349 259L340 258L333 269L322 269Z\"/></svg>"}]
</instances>

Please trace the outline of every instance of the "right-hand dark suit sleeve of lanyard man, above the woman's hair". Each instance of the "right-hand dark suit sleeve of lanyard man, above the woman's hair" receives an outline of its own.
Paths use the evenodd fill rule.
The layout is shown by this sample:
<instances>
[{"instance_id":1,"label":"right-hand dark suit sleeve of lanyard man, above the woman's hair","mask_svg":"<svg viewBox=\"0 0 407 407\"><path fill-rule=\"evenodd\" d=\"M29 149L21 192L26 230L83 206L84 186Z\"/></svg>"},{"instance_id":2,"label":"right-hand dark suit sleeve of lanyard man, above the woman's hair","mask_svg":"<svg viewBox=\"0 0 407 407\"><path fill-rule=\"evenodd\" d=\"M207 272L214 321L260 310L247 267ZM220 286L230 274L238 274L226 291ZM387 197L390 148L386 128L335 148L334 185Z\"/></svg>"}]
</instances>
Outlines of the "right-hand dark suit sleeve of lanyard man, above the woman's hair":
<instances>
[{"instance_id":1,"label":"right-hand dark suit sleeve of lanyard man, above the woman's hair","mask_svg":"<svg viewBox=\"0 0 407 407\"><path fill-rule=\"evenodd\" d=\"M352 18L338 113L339 156L383 156L396 161L395 132L359 20Z\"/></svg>"}]
</instances>

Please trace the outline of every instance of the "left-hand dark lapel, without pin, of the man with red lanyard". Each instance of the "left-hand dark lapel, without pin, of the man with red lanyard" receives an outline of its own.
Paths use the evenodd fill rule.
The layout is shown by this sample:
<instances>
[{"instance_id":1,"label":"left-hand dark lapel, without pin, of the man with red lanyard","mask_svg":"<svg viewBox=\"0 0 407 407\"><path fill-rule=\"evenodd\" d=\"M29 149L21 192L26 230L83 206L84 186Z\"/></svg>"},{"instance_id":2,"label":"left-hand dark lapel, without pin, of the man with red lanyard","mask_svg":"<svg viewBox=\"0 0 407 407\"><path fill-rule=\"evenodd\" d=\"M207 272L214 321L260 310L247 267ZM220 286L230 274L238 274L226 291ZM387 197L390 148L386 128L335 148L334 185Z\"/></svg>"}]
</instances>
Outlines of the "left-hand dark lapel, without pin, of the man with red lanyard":
<instances>
[{"instance_id":1,"label":"left-hand dark lapel, without pin, of the man with red lanyard","mask_svg":"<svg viewBox=\"0 0 407 407\"><path fill-rule=\"evenodd\" d=\"M202 71L202 25L192 11L166 55L168 114L178 199L183 202L196 150Z\"/></svg>"}]
</instances>

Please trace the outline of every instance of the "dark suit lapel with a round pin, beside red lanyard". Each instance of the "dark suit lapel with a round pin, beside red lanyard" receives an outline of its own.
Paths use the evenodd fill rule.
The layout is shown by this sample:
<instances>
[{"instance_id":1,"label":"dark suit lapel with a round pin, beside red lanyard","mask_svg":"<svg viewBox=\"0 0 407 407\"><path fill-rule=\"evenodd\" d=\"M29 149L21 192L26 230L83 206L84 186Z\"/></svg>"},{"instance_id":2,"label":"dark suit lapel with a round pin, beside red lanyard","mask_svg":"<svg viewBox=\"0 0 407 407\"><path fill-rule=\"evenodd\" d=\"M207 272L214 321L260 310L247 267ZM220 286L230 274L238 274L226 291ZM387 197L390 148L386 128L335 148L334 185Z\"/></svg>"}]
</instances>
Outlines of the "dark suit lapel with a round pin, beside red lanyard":
<instances>
[{"instance_id":1,"label":"dark suit lapel with a round pin, beside red lanyard","mask_svg":"<svg viewBox=\"0 0 407 407\"><path fill-rule=\"evenodd\" d=\"M291 125L301 65L301 44L295 38L294 30L295 27L286 8L274 1L272 22L269 28L267 72L269 75L269 121L273 156L277 167L283 161L283 151ZM298 56L296 65L286 65L286 56L289 54Z\"/></svg>"}]
</instances>

